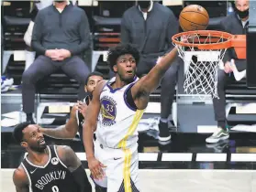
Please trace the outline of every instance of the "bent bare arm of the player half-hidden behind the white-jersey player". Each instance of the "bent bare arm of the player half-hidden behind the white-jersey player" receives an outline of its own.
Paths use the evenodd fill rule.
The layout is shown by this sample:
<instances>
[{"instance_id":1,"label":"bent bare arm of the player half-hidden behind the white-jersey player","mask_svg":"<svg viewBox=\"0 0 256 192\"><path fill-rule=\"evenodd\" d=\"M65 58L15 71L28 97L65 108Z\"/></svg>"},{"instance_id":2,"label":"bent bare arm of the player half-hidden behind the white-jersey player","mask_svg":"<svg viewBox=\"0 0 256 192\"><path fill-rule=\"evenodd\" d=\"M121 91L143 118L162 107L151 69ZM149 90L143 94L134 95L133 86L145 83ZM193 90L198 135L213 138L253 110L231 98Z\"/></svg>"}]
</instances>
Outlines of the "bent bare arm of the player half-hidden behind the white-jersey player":
<instances>
[{"instance_id":1,"label":"bent bare arm of the player half-hidden behind the white-jersey player","mask_svg":"<svg viewBox=\"0 0 256 192\"><path fill-rule=\"evenodd\" d=\"M78 123L76 119L77 105L72 107L71 117L69 121L57 128L39 128L39 131L45 135L48 135L57 139L72 139L78 132Z\"/></svg>"}]
</instances>

